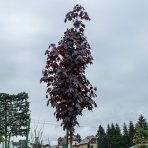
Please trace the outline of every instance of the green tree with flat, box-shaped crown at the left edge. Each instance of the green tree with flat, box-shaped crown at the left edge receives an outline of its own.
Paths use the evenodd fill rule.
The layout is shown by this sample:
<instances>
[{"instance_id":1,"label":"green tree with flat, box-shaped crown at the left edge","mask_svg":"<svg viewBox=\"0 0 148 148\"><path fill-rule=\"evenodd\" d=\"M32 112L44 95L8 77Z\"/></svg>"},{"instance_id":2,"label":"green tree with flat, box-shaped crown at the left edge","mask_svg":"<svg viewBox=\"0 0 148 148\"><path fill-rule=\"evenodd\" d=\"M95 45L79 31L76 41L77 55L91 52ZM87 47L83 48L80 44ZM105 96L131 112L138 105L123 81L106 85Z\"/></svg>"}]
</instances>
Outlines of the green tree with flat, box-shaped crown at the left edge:
<instances>
[{"instance_id":1,"label":"green tree with flat, box-shaped crown at the left edge","mask_svg":"<svg viewBox=\"0 0 148 148\"><path fill-rule=\"evenodd\" d=\"M30 118L28 94L0 93L0 134L4 136L5 148L11 136L26 136Z\"/></svg>"}]
</instances>

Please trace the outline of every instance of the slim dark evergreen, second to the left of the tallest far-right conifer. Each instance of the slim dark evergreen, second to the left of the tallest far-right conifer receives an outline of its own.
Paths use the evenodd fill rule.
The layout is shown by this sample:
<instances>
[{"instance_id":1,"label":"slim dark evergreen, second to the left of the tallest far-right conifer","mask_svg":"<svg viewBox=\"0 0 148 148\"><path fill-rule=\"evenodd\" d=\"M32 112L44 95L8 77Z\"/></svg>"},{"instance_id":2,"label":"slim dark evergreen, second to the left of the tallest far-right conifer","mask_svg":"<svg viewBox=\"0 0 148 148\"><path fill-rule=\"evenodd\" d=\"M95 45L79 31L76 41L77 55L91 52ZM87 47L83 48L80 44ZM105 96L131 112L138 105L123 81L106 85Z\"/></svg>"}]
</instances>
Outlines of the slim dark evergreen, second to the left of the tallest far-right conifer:
<instances>
[{"instance_id":1,"label":"slim dark evergreen, second to the left of the tallest far-right conifer","mask_svg":"<svg viewBox=\"0 0 148 148\"><path fill-rule=\"evenodd\" d=\"M122 146L128 147L129 145L129 132L126 123L123 125L123 136L122 136Z\"/></svg>"}]
</instances>

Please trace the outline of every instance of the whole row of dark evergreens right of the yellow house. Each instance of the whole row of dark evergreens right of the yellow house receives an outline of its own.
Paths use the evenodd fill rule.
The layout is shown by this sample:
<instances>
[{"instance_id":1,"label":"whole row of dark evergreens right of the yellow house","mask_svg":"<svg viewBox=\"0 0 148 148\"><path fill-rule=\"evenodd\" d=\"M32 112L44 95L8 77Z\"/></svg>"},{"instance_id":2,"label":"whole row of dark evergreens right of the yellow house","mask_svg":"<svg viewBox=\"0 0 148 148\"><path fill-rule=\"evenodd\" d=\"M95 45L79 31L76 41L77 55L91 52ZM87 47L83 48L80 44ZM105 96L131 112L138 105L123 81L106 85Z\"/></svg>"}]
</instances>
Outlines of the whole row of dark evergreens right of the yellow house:
<instances>
[{"instance_id":1,"label":"whole row of dark evergreens right of the yellow house","mask_svg":"<svg viewBox=\"0 0 148 148\"><path fill-rule=\"evenodd\" d=\"M135 125L132 121L128 125L124 123L122 131L118 123L108 124L106 130L99 125L96 136L97 148L128 148L145 144L148 143L148 122L140 115Z\"/></svg>"}]
</instances>

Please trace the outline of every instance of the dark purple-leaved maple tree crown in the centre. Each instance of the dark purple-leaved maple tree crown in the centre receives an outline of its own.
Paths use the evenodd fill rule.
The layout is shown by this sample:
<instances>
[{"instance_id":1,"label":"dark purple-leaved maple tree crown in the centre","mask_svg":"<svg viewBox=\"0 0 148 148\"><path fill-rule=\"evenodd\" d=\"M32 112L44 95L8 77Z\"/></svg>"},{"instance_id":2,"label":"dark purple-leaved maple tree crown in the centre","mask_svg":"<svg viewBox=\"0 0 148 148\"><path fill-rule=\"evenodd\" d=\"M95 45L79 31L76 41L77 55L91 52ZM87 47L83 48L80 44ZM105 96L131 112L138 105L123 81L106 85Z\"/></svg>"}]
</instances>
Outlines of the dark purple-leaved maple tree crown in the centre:
<instances>
[{"instance_id":1,"label":"dark purple-leaved maple tree crown in the centre","mask_svg":"<svg viewBox=\"0 0 148 148\"><path fill-rule=\"evenodd\" d=\"M65 22L72 21L73 27L64 32L58 45L50 44L46 50L47 62L41 82L47 83L48 103L56 108L57 121L62 120L63 129L70 130L78 124L77 116L87 108L92 110L97 104L94 88L85 76L85 69L92 64L90 45L84 35L83 20L90 20L85 9L76 5L68 12Z\"/></svg>"}]
</instances>

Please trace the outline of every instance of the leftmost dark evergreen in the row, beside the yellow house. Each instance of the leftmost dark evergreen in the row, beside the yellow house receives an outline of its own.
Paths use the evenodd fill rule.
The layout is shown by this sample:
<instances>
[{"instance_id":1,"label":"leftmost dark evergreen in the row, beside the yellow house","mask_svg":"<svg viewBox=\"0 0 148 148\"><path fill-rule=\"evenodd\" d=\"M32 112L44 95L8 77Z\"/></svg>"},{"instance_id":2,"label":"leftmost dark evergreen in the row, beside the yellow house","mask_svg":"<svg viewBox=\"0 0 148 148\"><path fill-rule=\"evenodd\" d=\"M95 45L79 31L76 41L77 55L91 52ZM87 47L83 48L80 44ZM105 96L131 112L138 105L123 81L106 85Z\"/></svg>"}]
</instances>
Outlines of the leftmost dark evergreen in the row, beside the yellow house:
<instances>
[{"instance_id":1,"label":"leftmost dark evergreen in the row, beside the yellow house","mask_svg":"<svg viewBox=\"0 0 148 148\"><path fill-rule=\"evenodd\" d=\"M104 128L100 125L97 131L97 148L106 148L107 147L107 138Z\"/></svg>"}]
</instances>

